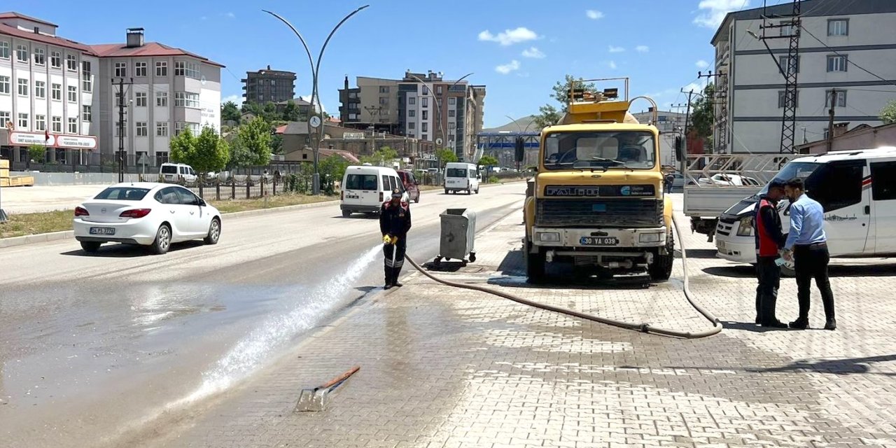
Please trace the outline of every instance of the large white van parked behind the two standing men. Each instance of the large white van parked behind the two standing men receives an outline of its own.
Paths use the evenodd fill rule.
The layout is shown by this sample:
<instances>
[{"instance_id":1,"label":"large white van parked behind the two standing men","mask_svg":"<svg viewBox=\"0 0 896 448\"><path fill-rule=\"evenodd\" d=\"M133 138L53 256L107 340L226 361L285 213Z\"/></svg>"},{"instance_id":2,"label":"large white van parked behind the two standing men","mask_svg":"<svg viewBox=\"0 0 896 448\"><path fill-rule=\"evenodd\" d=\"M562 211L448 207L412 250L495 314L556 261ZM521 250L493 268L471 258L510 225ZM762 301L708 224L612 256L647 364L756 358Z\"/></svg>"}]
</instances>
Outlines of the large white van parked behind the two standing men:
<instances>
[{"instance_id":1,"label":"large white van parked behind the two standing men","mask_svg":"<svg viewBox=\"0 0 896 448\"><path fill-rule=\"evenodd\" d=\"M806 194L824 207L831 256L896 254L896 148L835 151L791 160L773 179L801 177ZM719 257L756 263L753 216L762 191L725 211L716 228ZM781 225L790 225L789 202L778 204Z\"/></svg>"}]
</instances>

